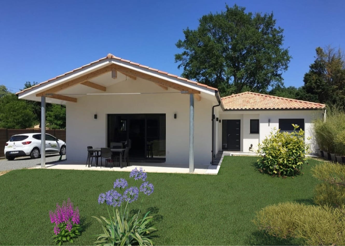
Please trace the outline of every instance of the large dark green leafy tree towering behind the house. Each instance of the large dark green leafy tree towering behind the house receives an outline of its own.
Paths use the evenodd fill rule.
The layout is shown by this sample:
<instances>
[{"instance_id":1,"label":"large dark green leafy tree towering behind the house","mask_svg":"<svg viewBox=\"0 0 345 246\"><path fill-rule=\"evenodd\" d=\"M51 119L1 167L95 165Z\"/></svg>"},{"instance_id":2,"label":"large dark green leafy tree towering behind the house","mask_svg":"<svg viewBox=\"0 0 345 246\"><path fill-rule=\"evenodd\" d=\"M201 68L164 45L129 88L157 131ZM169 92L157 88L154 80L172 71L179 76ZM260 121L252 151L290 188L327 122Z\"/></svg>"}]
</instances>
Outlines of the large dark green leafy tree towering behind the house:
<instances>
[{"instance_id":1,"label":"large dark green leafy tree towering behind the house","mask_svg":"<svg viewBox=\"0 0 345 246\"><path fill-rule=\"evenodd\" d=\"M176 46L184 51L175 55L182 76L217 87L221 95L283 85L282 72L291 57L273 13L246 13L244 7L226 5L226 11L201 17L196 30L183 32L185 39Z\"/></svg>"}]
</instances>

